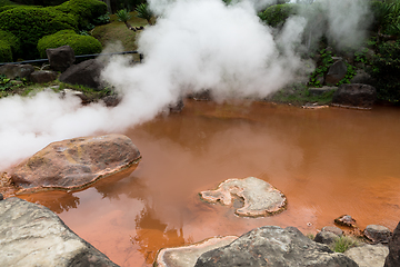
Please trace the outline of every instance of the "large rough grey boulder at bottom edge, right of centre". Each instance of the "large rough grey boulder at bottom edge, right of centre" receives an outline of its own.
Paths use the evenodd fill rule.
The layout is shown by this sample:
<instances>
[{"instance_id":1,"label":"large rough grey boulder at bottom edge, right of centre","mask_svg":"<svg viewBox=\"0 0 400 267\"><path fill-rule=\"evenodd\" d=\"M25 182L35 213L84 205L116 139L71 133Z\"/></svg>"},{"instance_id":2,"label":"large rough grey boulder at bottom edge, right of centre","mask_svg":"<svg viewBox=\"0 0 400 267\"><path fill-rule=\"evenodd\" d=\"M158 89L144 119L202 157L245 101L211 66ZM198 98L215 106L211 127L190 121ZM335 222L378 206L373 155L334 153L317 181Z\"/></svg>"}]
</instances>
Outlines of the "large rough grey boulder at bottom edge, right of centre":
<instances>
[{"instance_id":1,"label":"large rough grey boulder at bottom edge, right of centre","mask_svg":"<svg viewBox=\"0 0 400 267\"><path fill-rule=\"evenodd\" d=\"M194 267L324 266L358 267L343 254L314 243L294 227L264 226L230 245L202 254Z\"/></svg>"}]
</instances>

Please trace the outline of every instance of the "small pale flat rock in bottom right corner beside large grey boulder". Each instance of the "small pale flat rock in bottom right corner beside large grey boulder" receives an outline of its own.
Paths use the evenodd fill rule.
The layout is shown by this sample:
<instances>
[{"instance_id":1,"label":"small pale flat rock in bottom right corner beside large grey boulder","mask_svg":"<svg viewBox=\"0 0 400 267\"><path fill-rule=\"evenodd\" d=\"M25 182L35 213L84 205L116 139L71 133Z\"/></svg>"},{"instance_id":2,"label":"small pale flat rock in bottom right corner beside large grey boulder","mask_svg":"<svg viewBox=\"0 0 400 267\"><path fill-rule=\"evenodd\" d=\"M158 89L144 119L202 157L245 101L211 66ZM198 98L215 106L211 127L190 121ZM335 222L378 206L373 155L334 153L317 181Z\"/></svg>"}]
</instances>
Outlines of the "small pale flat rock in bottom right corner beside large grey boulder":
<instances>
[{"instance_id":1,"label":"small pale flat rock in bottom right corner beside large grey boulder","mask_svg":"<svg viewBox=\"0 0 400 267\"><path fill-rule=\"evenodd\" d=\"M363 245L349 248L344 255L354 260L360 267L382 267L389 248L383 245Z\"/></svg>"}]
</instances>

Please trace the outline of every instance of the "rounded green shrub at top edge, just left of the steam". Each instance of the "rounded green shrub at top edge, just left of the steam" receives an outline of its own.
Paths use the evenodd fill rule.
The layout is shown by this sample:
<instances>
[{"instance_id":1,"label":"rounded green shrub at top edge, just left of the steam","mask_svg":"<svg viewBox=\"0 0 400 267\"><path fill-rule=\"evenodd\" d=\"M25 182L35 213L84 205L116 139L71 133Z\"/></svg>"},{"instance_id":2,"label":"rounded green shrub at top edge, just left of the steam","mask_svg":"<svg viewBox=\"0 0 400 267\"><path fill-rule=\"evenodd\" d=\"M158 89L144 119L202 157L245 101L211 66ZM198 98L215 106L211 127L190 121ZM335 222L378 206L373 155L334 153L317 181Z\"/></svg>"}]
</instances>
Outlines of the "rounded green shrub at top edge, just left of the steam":
<instances>
[{"instance_id":1,"label":"rounded green shrub at top edge, just left of the steam","mask_svg":"<svg viewBox=\"0 0 400 267\"><path fill-rule=\"evenodd\" d=\"M54 7L54 9L74 14L80 29L86 29L89 23L94 23L94 20L100 16L107 14L107 4L99 0L69 0Z\"/></svg>"}]
</instances>

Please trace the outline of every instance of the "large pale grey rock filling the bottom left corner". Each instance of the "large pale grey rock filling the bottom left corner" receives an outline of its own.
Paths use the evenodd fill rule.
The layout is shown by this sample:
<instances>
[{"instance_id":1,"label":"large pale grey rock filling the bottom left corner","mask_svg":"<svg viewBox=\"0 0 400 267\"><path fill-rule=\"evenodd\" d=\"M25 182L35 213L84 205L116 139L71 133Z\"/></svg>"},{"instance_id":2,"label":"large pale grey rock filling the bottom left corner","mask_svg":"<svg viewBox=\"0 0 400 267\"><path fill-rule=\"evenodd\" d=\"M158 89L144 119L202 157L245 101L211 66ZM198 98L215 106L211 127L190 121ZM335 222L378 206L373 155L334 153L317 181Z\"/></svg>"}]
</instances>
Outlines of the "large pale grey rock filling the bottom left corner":
<instances>
[{"instance_id":1,"label":"large pale grey rock filling the bottom left corner","mask_svg":"<svg viewBox=\"0 0 400 267\"><path fill-rule=\"evenodd\" d=\"M1 200L0 221L1 266L118 266L43 206L19 198Z\"/></svg>"}]
</instances>

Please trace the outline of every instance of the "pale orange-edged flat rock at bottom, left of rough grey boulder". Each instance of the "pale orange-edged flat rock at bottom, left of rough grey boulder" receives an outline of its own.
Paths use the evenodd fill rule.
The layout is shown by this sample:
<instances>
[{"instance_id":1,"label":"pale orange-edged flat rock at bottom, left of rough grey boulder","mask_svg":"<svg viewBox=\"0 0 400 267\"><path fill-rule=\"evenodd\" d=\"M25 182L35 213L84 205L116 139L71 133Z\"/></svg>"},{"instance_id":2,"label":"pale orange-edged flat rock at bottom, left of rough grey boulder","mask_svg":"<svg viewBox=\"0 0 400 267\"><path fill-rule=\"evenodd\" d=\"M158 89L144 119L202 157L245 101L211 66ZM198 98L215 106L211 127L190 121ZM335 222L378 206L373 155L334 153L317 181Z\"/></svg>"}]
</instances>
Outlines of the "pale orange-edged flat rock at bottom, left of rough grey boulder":
<instances>
[{"instance_id":1,"label":"pale orange-edged flat rock at bottom, left of rough grey boulder","mask_svg":"<svg viewBox=\"0 0 400 267\"><path fill-rule=\"evenodd\" d=\"M203 253L227 246L237 238L237 236L213 237L190 246L163 248L158 253L153 266L192 267Z\"/></svg>"}]
</instances>

